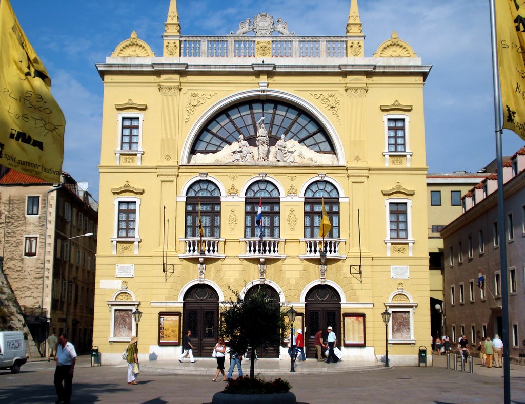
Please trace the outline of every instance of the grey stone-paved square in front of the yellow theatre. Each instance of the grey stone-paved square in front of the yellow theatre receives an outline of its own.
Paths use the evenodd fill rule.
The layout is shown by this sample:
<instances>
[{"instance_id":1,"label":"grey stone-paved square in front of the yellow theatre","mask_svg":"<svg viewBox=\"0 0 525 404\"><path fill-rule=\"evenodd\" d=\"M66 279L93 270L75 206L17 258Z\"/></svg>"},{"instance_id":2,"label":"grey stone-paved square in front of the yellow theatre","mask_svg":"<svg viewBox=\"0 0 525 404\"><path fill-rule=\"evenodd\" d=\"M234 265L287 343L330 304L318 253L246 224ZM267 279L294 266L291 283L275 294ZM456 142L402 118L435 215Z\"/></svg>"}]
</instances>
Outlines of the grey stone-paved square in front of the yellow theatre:
<instances>
[{"instance_id":1,"label":"grey stone-paved square in front of the yellow theatre","mask_svg":"<svg viewBox=\"0 0 525 404\"><path fill-rule=\"evenodd\" d=\"M503 369L482 368L475 359L475 373L446 369L446 358L434 356L433 367L392 367L352 372L343 363L337 372L323 371L333 365L307 361L296 373L289 367L275 374L263 374L266 379L281 377L292 385L299 402L308 404L382 403L400 401L420 403L500 403L503 402ZM183 374L159 371L142 364L138 385L125 383L127 365L90 367L88 355L79 357L75 368L72 403L103 402L109 404L202 404L210 402L224 383L213 383L214 361L204 360L202 367L184 363ZM243 361L244 362L244 361ZM256 364L256 374L271 369L266 362ZM345 361L346 362L346 361ZM178 363L178 362L177 362ZM206 364L206 367L204 366ZM144 366L146 365L146 366ZM151 364L150 364L151 365ZM284 364L283 364L284 365ZM383 365L383 364L382 364ZM178 366L178 365L175 365ZM209 368L207 368L209 366ZM246 366L246 371L248 366ZM289 366L289 365L288 365ZM384 365L383 365L384 366ZM317 367L318 372L312 372ZM148 370L146 370L146 368ZM276 368L274 367L276 370ZM197 374L197 370L199 374ZM209 372L211 370L211 373ZM0 370L1 403L50 403L56 400L53 387L54 363L30 362L17 375ZM525 402L525 367L511 365L511 399Z\"/></svg>"}]
</instances>

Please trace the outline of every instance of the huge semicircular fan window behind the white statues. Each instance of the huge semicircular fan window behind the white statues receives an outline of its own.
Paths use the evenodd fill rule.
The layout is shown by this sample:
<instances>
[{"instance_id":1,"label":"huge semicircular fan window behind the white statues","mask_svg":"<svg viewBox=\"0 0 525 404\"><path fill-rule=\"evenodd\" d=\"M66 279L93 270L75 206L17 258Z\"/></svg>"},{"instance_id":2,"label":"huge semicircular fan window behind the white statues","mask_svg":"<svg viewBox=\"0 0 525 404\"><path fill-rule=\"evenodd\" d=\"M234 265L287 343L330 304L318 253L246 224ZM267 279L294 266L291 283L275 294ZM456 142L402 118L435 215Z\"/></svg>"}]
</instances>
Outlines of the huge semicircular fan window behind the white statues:
<instances>
[{"instance_id":1,"label":"huge semicircular fan window behind the white statues","mask_svg":"<svg viewBox=\"0 0 525 404\"><path fill-rule=\"evenodd\" d=\"M297 140L309 149L335 154L323 127L307 112L283 101L245 101L225 108L213 116L195 138L191 154L215 153L238 141L243 135L250 146L256 146L257 121L264 116L270 140L275 146L281 135Z\"/></svg>"}]
</instances>

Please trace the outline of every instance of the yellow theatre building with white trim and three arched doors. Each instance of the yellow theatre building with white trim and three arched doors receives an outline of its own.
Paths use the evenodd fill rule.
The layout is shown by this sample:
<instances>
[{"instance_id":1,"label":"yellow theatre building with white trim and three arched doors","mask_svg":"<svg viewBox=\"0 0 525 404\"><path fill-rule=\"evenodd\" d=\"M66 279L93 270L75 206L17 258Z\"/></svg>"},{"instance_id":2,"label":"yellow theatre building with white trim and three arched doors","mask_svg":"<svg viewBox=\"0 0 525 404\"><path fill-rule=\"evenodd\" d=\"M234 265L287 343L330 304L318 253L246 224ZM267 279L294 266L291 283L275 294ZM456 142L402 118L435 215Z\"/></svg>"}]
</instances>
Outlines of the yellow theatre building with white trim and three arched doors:
<instances>
[{"instance_id":1,"label":"yellow theatre building with white trim and three arched doors","mask_svg":"<svg viewBox=\"0 0 525 404\"><path fill-rule=\"evenodd\" d=\"M386 331L391 364L417 364L430 345L430 65L396 32L365 56L357 0L339 37L297 36L264 12L184 36L176 1L166 10L162 56L133 31L97 64L102 363L121 363L136 310L142 361L177 359L186 330L211 358L232 290L266 284L298 311L307 358L332 326L343 360L384 361ZM258 354L289 361L286 349Z\"/></svg>"}]
</instances>

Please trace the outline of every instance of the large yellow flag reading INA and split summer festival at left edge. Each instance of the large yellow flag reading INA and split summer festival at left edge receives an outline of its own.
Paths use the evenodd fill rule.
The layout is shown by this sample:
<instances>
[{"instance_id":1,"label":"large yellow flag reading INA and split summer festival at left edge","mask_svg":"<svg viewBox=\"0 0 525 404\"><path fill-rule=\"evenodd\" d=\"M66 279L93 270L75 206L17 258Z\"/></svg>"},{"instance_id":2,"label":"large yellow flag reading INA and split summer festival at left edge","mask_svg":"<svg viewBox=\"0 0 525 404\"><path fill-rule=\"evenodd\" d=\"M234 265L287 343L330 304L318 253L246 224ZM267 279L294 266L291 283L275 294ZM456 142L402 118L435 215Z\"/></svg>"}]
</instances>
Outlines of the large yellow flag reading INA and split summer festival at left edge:
<instances>
[{"instance_id":1,"label":"large yellow flag reading INA and split summer festival at left edge","mask_svg":"<svg viewBox=\"0 0 525 404\"><path fill-rule=\"evenodd\" d=\"M0 164L59 182L66 121L8 0L0 0L0 49Z\"/></svg>"}]
</instances>

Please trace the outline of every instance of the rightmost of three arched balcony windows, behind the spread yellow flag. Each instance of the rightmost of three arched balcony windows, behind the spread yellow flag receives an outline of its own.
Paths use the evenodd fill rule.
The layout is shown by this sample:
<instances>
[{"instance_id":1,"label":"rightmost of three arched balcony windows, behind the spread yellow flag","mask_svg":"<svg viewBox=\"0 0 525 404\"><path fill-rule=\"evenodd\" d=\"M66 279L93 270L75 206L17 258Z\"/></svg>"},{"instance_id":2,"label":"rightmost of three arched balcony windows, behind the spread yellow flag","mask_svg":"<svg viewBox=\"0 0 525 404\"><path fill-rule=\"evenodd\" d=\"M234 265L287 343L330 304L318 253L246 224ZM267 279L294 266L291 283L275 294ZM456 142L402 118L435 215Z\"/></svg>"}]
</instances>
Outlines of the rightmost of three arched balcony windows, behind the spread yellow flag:
<instances>
[{"instance_id":1,"label":"rightmost of three arched balcony windows, behind the spread yellow flag","mask_svg":"<svg viewBox=\"0 0 525 404\"><path fill-rule=\"evenodd\" d=\"M328 181L312 182L304 192L304 237L319 235L322 217L322 200L332 228L328 237L339 238L339 192Z\"/></svg>"}]
</instances>

